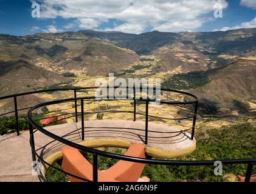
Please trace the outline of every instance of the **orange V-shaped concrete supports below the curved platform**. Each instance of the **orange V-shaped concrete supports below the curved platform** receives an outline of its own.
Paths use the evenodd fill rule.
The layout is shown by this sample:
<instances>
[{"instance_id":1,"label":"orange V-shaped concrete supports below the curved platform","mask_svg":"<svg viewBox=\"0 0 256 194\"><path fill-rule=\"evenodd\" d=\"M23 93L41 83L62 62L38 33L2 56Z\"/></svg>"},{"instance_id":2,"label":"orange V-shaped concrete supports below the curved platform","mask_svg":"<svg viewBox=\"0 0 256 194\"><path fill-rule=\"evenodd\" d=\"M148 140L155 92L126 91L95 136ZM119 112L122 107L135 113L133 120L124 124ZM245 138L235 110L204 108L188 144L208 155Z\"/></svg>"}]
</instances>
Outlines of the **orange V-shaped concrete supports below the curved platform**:
<instances>
[{"instance_id":1,"label":"orange V-shaped concrete supports below the curved platform","mask_svg":"<svg viewBox=\"0 0 256 194\"><path fill-rule=\"evenodd\" d=\"M64 146L61 150L63 152L61 167L64 171L92 180L92 164L77 149ZM125 155L145 158L145 147L142 144L131 144ZM136 182L144 167L145 164L120 160L105 171L98 170L98 181ZM68 178L72 182L82 181L73 176L68 176Z\"/></svg>"}]
</instances>

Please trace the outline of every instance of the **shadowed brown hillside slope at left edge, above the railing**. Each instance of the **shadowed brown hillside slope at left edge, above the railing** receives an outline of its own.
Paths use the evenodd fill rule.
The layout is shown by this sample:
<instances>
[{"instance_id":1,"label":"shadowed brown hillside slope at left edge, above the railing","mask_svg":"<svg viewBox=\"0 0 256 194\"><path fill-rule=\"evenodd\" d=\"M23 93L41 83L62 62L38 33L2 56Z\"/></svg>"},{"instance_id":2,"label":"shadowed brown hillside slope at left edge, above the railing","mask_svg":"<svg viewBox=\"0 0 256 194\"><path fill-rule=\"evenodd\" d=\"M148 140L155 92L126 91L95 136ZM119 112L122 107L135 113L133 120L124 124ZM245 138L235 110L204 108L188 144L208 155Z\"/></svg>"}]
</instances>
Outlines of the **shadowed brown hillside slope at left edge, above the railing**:
<instances>
[{"instance_id":1,"label":"shadowed brown hillside slope at left edge, above the railing","mask_svg":"<svg viewBox=\"0 0 256 194\"><path fill-rule=\"evenodd\" d=\"M69 81L68 78L50 72L26 61L0 61L0 95L29 92L37 87Z\"/></svg>"}]
</instances>

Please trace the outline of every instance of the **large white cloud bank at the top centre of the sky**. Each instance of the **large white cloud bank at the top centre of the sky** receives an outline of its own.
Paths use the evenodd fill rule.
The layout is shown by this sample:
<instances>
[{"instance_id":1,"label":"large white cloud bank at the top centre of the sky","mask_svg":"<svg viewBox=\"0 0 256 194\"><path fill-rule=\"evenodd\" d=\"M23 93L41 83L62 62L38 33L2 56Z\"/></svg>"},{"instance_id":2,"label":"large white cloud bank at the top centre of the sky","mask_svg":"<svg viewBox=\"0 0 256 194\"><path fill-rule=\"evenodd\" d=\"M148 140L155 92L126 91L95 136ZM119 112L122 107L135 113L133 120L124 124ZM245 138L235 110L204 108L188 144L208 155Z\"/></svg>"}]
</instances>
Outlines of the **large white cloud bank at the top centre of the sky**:
<instances>
[{"instance_id":1,"label":"large white cloud bank at the top centre of the sky","mask_svg":"<svg viewBox=\"0 0 256 194\"><path fill-rule=\"evenodd\" d=\"M213 15L216 2L218 0L40 0L40 16L74 18L80 28L92 29L99 28L108 19L116 19L122 24L111 30L130 33L140 33L146 28L191 31L201 27L203 15ZM222 2L226 8L227 2Z\"/></svg>"}]
</instances>

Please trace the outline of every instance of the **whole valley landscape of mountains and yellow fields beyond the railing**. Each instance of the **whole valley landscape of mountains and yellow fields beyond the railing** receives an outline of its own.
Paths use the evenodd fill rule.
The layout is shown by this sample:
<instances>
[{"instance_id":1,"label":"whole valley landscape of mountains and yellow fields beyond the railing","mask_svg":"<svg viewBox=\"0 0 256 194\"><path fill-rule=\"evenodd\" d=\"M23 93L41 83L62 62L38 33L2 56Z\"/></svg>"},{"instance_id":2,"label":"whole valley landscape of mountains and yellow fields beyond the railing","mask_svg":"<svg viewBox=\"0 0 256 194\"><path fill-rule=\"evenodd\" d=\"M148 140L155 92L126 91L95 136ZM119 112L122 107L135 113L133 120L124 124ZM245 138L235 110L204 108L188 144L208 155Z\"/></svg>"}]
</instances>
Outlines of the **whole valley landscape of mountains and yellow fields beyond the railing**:
<instances>
[{"instance_id":1,"label":"whole valley landscape of mountains and yellow fields beyond the railing","mask_svg":"<svg viewBox=\"0 0 256 194\"><path fill-rule=\"evenodd\" d=\"M218 127L243 122L244 118L255 122L254 37L256 29L209 33L153 31L140 35L94 30L24 37L0 35L1 96L94 86L96 79L108 78L109 73L114 73L116 78L125 79L161 78L162 87L195 94L199 97L198 126ZM241 47L241 42L243 45L247 42L246 47ZM87 92L80 92L78 97L94 95L94 91ZM41 93L18 98L18 104L24 108L38 102L73 98L73 95L68 91ZM94 104L92 110L99 108L100 103L104 104ZM1 110L12 110L11 104L11 101L2 101ZM116 109L130 109L130 102L117 104L119 107L113 105ZM143 104L138 107L143 111ZM54 109L57 107L49 108L52 112ZM67 105L59 112L73 109ZM151 111L157 113L157 109L163 107L154 107ZM170 115L177 111L167 110ZM121 114L119 118L130 119L130 116ZM181 125L187 127L191 123Z\"/></svg>"}]
</instances>

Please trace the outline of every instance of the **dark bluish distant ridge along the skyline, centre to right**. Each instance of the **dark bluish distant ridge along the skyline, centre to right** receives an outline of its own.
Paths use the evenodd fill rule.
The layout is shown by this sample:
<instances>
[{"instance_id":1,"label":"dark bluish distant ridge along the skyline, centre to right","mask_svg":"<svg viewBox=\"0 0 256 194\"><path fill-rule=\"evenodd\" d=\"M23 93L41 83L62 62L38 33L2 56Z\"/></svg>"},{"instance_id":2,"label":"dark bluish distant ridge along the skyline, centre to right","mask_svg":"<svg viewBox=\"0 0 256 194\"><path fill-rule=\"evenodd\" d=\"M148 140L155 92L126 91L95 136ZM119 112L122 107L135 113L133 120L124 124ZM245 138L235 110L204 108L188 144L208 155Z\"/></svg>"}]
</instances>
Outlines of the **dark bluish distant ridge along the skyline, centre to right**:
<instances>
[{"instance_id":1,"label":"dark bluish distant ridge along the skyline, centre to right","mask_svg":"<svg viewBox=\"0 0 256 194\"><path fill-rule=\"evenodd\" d=\"M174 41L192 41L196 44L204 45L213 54L226 52L243 51L252 48L255 43L256 28L228 30L226 32L147 32L139 35L127 34L122 32L97 32L94 30L79 31L85 35L97 36L98 38L108 39L115 44L134 50L137 54L150 54L158 47L170 44ZM237 42L233 43L232 41ZM241 43L245 42L248 48L244 48ZM229 49L225 51L225 49Z\"/></svg>"}]
</instances>

